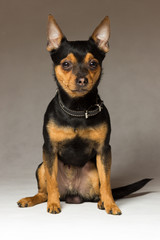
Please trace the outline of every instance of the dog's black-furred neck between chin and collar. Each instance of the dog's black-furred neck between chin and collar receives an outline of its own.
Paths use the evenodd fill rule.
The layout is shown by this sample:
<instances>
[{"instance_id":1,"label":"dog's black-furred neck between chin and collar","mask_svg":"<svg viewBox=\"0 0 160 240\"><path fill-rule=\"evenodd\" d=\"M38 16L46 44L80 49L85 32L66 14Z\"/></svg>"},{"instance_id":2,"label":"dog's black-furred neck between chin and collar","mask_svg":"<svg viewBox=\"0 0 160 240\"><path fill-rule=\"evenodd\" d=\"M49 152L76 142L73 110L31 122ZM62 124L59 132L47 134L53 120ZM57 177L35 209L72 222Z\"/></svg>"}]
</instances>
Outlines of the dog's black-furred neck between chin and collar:
<instances>
[{"instance_id":1,"label":"dog's black-furred neck between chin and collar","mask_svg":"<svg viewBox=\"0 0 160 240\"><path fill-rule=\"evenodd\" d=\"M90 106L95 105L99 102L98 89L95 87L84 95L83 97L72 98L70 97L60 86L58 87L58 94L62 99L65 106L71 110L83 111L88 109Z\"/></svg>"}]
</instances>

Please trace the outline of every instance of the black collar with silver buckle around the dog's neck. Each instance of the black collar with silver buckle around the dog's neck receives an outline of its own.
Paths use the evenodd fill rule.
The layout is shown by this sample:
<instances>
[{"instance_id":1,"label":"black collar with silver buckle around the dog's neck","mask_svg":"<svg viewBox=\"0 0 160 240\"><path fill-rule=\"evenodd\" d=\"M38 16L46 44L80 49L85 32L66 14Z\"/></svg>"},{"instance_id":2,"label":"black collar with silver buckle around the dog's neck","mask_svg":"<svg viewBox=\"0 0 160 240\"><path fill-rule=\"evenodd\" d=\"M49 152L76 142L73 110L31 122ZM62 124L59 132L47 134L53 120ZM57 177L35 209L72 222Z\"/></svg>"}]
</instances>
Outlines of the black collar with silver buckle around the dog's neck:
<instances>
[{"instance_id":1,"label":"black collar with silver buckle around the dog's neck","mask_svg":"<svg viewBox=\"0 0 160 240\"><path fill-rule=\"evenodd\" d=\"M84 111L71 110L64 105L59 92L58 92L58 102L59 102L61 109L68 115L70 115L72 117L83 117L86 119L97 115L99 112L102 111L102 108L103 108L103 101L99 100L99 103L96 103L96 104L90 106L87 110L84 110ZM92 109L92 110L90 110L90 109Z\"/></svg>"}]
</instances>

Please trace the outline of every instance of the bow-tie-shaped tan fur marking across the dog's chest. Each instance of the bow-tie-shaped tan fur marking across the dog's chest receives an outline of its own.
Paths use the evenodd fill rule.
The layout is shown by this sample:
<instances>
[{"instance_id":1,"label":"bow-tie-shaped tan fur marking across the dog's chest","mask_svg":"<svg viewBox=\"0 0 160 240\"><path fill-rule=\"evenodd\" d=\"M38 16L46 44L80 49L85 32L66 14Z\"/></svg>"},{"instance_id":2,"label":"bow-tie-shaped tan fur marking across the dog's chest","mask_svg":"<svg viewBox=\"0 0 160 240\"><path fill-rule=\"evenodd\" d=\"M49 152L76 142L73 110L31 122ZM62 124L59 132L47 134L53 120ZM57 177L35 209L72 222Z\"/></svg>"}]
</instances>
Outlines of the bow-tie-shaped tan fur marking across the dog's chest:
<instances>
[{"instance_id":1,"label":"bow-tie-shaped tan fur marking across the dog's chest","mask_svg":"<svg viewBox=\"0 0 160 240\"><path fill-rule=\"evenodd\" d=\"M71 140L75 137L89 139L102 144L106 138L108 127L105 123L96 127L79 128L74 131L72 127L58 126L53 120L49 121L47 131L53 143Z\"/></svg>"}]
</instances>

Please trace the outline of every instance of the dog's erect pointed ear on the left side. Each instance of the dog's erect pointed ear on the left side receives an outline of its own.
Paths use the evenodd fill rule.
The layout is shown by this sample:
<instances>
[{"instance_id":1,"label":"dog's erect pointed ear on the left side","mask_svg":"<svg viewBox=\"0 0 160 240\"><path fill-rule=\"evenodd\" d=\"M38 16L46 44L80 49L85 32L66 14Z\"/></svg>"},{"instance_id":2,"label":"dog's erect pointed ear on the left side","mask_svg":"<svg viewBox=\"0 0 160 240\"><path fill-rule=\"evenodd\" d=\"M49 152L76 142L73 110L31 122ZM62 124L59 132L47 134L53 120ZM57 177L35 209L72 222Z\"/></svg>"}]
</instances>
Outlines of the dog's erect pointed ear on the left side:
<instances>
[{"instance_id":1,"label":"dog's erect pointed ear on the left side","mask_svg":"<svg viewBox=\"0 0 160 240\"><path fill-rule=\"evenodd\" d=\"M49 15L47 27L47 50L50 52L59 48L63 37L63 33L56 23L56 20L52 15Z\"/></svg>"}]
</instances>

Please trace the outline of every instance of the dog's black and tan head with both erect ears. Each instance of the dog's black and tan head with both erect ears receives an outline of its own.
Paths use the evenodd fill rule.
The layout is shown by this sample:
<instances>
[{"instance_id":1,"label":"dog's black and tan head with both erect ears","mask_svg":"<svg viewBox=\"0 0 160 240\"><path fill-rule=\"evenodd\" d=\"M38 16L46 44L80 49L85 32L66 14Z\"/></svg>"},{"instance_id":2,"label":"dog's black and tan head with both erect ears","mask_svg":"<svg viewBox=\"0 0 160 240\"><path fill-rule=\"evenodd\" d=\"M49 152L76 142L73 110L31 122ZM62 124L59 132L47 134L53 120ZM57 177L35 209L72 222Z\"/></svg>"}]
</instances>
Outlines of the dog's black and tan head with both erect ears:
<instances>
[{"instance_id":1,"label":"dog's black and tan head with both erect ears","mask_svg":"<svg viewBox=\"0 0 160 240\"><path fill-rule=\"evenodd\" d=\"M109 18L105 17L88 41L68 41L49 15L47 50L54 62L57 84L69 96L82 97L98 85L102 61L109 51L109 35Z\"/></svg>"}]
</instances>

